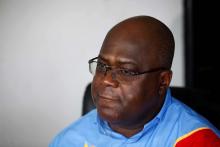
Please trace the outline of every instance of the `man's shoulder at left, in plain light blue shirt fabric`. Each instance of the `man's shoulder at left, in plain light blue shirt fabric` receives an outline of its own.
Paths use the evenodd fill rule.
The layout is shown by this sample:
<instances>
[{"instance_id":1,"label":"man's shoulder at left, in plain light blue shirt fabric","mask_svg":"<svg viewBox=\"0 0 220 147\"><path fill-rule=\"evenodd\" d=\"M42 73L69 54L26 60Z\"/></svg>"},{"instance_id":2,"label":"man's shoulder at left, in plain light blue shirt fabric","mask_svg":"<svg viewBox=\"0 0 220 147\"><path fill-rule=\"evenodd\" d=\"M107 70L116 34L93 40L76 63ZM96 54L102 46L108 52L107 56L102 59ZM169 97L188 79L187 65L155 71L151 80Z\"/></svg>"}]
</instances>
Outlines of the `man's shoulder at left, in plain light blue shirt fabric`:
<instances>
[{"instance_id":1,"label":"man's shoulder at left, in plain light blue shirt fabric","mask_svg":"<svg viewBox=\"0 0 220 147\"><path fill-rule=\"evenodd\" d=\"M88 132L97 130L97 112L93 110L62 130L51 142L50 147L68 147L83 144ZM77 144L76 144L77 143Z\"/></svg>"}]
</instances>

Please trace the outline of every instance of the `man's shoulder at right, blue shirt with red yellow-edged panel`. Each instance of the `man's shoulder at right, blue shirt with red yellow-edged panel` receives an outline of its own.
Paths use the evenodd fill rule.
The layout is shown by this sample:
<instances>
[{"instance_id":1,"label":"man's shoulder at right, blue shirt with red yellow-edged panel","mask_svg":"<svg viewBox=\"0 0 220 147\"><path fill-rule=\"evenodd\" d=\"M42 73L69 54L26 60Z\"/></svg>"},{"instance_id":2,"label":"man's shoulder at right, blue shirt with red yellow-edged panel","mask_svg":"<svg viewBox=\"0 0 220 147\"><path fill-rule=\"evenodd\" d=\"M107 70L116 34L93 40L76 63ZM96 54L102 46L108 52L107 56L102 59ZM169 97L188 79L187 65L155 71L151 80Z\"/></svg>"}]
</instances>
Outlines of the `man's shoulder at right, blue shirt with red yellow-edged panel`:
<instances>
[{"instance_id":1,"label":"man's shoulder at right, blue shirt with red yellow-edged panel","mask_svg":"<svg viewBox=\"0 0 220 147\"><path fill-rule=\"evenodd\" d=\"M220 146L219 130L206 118L175 98L170 109L176 113L174 126L178 130L174 147Z\"/></svg>"}]
</instances>

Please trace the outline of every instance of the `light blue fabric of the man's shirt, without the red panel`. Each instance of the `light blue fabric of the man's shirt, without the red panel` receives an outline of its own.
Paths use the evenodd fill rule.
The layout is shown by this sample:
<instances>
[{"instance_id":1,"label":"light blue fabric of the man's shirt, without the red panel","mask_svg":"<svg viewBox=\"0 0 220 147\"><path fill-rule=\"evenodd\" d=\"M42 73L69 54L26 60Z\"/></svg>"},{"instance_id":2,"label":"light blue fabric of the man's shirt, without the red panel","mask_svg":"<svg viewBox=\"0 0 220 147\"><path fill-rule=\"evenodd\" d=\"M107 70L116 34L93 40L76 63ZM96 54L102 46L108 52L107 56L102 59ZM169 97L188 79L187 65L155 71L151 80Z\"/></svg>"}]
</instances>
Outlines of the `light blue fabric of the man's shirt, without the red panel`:
<instances>
[{"instance_id":1,"label":"light blue fabric of the man's shirt, without the red panel","mask_svg":"<svg viewBox=\"0 0 220 147\"><path fill-rule=\"evenodd\" d=\"M160 112L130 138L114 132L93 110L60 132L49 147L172 147L182 136L201 128L220 136L212 124L173 98L168 89Z\"/></svg>"}]
</instances>

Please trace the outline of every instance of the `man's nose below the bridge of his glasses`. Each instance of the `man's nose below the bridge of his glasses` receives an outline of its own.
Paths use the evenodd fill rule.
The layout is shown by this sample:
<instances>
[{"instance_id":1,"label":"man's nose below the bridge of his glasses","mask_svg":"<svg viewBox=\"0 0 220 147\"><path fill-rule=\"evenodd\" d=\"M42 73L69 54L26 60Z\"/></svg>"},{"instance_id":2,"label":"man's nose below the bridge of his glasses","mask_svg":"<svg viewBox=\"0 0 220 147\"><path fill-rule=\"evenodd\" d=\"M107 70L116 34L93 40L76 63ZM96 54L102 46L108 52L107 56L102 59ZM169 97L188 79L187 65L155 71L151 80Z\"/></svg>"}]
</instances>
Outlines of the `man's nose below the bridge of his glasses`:
<instances>
[{"instance_id":1,"label":"man's nose below the bridge of his glasses","mask_svg":"<svg viewBox=\"0 0 220 147\"><path fill-rule=\"evenodd\" d=\"M116 79L116 73L112 70L108 70L104 76L104 84L107 86L112 86L114 88L118 87L119 82Z\"/></svg>"}]
</instances>

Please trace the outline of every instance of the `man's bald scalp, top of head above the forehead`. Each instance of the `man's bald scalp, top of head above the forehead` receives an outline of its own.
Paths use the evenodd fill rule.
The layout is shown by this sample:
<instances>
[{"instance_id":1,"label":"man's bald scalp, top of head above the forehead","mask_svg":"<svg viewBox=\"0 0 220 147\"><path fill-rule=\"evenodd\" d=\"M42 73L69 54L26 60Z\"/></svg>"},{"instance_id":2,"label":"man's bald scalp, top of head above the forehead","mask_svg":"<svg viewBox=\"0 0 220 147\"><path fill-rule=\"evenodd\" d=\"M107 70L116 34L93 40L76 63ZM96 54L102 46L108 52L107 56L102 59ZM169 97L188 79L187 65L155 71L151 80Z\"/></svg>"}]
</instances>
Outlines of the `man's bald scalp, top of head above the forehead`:
<instances>
[{"instance_id":1,"label":"man's bald scalp, top of head above the forehead","mask_svg":"<svg viewBox=\"0 0 220 147\"><path fill-rule=\"evenodd\" d=\"M174 38L169 28L159 20L150 16L128 18L115 25L106 35L101 52L106 46L127 42L135 45L134 52L144 58L151 58L154 66L171 68L174 55ZM117 44L116 43L116 44ZM123 50L120 48L120 50ZM128 50L124 49L124 52ZM132 49L129 51L132 52ZM137 55L137 54L134 54Z\"/></svg>"}]
</instances>

